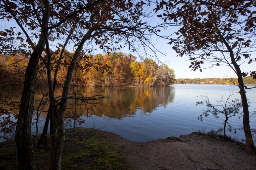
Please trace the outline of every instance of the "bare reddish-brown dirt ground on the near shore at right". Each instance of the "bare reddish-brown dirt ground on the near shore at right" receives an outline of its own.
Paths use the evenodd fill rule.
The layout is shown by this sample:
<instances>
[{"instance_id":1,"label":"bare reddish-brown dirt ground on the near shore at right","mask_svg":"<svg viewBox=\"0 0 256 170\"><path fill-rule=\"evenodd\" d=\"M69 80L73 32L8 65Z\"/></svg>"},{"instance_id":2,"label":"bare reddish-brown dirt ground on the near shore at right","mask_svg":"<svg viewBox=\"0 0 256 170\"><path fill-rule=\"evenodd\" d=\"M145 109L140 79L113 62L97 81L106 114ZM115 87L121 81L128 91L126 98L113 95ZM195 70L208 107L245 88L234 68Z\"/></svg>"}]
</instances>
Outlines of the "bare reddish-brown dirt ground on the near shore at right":
<instances>
[{"instance_id":1,"label":"bare reddish-brown dirt ground on the near shore at right","mask_svg":"<svg viewBox=\"0 0 256 170\"><path fill-rule=\"evenodd\" d=\"M117 137L119 138L119 137ZM117 139L116 138L116 139ZM206 139L207 138L207 139ZM241 147L198 133L179 139L131 142L119 138L137 169L145 170L254 170L256 157Z\"/></svg>"}]
</instances>

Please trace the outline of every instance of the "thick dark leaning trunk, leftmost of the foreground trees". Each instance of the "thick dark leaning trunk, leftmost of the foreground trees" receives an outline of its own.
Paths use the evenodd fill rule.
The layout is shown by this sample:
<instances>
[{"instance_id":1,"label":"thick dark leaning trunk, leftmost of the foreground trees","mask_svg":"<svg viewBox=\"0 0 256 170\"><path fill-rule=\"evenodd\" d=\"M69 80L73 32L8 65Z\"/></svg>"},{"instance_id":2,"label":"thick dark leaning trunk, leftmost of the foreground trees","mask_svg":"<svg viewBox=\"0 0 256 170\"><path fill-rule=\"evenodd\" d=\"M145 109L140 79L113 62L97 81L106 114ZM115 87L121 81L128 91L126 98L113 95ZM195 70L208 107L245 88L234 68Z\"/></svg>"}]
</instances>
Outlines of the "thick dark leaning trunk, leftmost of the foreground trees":
<instances>
[{"instance_id":1,"label":"thick dark leaning trunk, leftmost of the foreground trees","mask_svg":"<svg viewBox=\"0 0 256 170\"><path fill-rule=\"evenodd\" d=\"M37 67L44 46L45 40L41 38L36 49L33 51L26 68L15 137L20 170L35 169L33 142L31 138L31 122L34 112Z\"/></svg>"}]
</instances>

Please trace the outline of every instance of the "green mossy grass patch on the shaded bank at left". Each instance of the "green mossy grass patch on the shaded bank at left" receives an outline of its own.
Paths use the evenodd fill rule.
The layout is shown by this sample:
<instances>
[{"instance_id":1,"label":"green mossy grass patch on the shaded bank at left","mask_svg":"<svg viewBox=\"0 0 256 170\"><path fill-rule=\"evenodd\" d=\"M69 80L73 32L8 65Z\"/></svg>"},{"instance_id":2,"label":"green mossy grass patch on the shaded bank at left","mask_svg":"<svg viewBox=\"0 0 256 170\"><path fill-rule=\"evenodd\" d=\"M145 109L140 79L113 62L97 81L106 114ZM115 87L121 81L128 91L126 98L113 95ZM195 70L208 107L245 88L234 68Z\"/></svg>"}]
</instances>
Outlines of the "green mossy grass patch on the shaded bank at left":
<instances>
[{"instance_id":1,"label":"green mossy grass patch on the shaded bank at left","mask_svg":"<svg viewBox=\"0 0 256 170\"><path fill-rule=\"evenodd\" d=\"M131 170L126 147L111 132L77 128L66 130L66 141L62 152L63 170ZM0 143L0 169L18 169L15 141ZM34 148L36 169L46 170L50 166L49 146Z\"/></svg>"}]
</instances>

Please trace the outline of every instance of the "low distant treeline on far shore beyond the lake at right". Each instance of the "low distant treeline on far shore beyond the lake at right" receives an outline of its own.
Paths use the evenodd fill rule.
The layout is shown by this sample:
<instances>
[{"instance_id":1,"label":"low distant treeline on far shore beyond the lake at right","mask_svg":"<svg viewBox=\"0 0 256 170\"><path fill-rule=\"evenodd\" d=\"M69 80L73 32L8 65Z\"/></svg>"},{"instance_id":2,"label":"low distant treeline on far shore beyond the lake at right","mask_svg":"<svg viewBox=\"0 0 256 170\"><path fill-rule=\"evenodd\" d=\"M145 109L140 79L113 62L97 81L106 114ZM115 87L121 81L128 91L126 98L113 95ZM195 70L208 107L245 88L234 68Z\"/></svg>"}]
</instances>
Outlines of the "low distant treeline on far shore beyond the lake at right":
<instances>
[{"instance_id":1,"label":"low distant treeline on far shore beyond the lake at right","mask_svg":"<svg viewBox=\"0 0 256 170\"><path fill-rule=\"evenodd\" d=\"M243 78L244 84L256 85L256 79L253 79L251 76ZM220 85L238 85L236 78L177 78L175 81L176 84L220 84Z\"/></svg>"}]
</instances>

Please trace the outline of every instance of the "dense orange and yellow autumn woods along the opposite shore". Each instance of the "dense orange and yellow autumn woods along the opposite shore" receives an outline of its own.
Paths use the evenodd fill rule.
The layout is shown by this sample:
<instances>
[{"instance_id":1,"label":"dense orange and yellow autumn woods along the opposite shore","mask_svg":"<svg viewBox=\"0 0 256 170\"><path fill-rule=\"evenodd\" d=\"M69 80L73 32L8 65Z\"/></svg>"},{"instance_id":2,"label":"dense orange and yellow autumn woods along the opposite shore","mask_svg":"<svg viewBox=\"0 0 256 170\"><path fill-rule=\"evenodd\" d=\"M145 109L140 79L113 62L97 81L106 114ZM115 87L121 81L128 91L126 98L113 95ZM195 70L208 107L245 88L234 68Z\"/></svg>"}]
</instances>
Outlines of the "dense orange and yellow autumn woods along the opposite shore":
<instances>
[{"instance_id":1,"label":"dense orange and yellow autumn woods along the opposite shore","mask_svg":"<svg viewBox=\"0 0 256 170\"><path fill-rule=\"evenodd\" d=\"M67 74L67 67L70 64L70 57L73 53L65 51L65 55L59 65L57 82L63 85ZM42 54L44 57L44 55ZM1 74L0 84L22 85L24 72L29 58L21 55L0 56ZM58 56L52 61L52 69L56 68ZM104 68L104 69L103 69ZM1 71L1 73L4 73ZM43 62L39 63L37 82L47 84L46 68ZM53 76L53 75L52 75ZM73 86L167 86L174 84L174 70L167 65L158 65L152 59L136 61L136 57L125 55L122 52L108 53L105 55L96 54L81 57L76 65L72 77Z\"/></svg>"}]
</instances>

